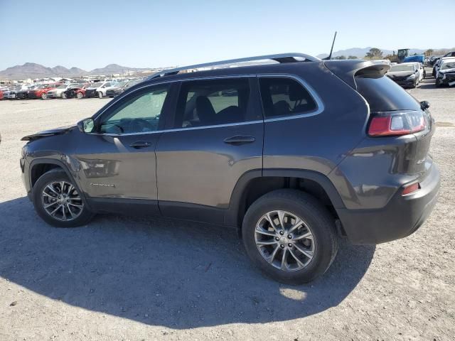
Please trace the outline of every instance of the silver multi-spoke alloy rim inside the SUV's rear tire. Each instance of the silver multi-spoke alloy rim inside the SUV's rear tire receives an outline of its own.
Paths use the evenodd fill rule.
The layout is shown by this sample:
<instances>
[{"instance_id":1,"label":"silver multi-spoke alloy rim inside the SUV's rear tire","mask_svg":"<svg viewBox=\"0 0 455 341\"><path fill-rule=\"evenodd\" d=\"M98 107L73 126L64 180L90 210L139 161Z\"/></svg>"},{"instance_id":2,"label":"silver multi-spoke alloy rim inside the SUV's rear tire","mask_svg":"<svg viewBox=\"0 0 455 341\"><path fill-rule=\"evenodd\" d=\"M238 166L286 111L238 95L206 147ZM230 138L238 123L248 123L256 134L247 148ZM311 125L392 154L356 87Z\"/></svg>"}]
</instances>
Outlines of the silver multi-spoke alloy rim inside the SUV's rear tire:
<instances>
[{"instance_id":1,"label":"silver multi-spoke alloy rim inside the SUV's rear tire","mask_svg":"<svg viewBox=\"0 0 455 341\"><path fill-rule=\"evenodd\" d=\"M308 224L282 210L267 212L259 219L255 242L262 257L283 271L304 269L316 251L314 235Z\"/></svg>"}]
</instances>

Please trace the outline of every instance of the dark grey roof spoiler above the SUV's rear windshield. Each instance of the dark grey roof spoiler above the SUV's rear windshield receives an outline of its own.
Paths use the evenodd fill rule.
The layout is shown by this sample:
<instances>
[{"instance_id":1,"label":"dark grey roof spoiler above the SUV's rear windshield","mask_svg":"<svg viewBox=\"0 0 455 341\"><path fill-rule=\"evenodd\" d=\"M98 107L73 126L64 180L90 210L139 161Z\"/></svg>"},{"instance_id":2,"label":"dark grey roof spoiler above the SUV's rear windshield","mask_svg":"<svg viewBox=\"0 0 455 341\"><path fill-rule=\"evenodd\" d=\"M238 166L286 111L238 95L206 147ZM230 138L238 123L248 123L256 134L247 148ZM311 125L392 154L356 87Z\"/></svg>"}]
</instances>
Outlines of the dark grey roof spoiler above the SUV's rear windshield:
<instances>
[{"instance_id":1,"label":"dark grey roof spoiler above the SUV's rear windshield","mask_svg":"<svg viewBox=\"0 0 455 341\"><path fill-rule=\"evenodd\" d=\"M324 65L355 90L355 76L380 78L390 70L390 65L386 63L375 64L368 60L324 60Z\"/></svg>"}]
</instances>

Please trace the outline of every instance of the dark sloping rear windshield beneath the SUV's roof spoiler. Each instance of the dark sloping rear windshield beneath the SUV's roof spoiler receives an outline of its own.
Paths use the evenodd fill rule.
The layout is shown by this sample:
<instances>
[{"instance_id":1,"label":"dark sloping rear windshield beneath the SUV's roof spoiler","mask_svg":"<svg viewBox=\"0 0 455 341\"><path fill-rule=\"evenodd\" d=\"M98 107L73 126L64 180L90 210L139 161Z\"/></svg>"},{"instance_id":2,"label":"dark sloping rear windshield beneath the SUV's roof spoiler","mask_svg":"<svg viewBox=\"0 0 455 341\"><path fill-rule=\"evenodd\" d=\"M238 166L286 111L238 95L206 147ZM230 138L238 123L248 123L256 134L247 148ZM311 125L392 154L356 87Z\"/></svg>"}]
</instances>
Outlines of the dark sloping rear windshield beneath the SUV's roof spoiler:
<instances>
[{"instance_id":1,"label":"dark sloping rear windshield beneath the SUV's roof spoiler","mask_svg":"<svg viewBox=\"0 0 455 341\"><path fill-rule=\"evenodd\" d=\"M357 91L370 105L370 112L420 110L420 104L389 77L356 75Z\"/></svg>"}]
</instances>

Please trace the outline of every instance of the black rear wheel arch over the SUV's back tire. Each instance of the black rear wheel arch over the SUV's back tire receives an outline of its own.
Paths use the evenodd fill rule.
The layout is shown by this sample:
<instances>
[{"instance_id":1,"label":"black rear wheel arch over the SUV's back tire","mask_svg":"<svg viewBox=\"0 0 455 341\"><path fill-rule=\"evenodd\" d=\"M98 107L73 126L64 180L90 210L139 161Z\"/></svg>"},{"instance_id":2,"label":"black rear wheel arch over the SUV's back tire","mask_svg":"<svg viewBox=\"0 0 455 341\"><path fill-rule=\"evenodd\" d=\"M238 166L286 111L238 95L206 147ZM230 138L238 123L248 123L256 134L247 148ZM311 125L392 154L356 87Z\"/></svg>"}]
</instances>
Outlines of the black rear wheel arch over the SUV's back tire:
<instances>
[{"instance_id":1,"label":"black rear wheel arch over the SUV's back tire","mask_svg":"<svg viewBox=\"0 0 455 341\"><path fill-rule=\"evenodd\" d=\"M313 195L333 207L334 215L337 215L336 209L345 207L335 186L323 173L300 169L258 169L244 173L237 181L225 213L225 224L240 229L242 218L252 202L282 188L302 190Z\"/></svg>"}]
</instances>

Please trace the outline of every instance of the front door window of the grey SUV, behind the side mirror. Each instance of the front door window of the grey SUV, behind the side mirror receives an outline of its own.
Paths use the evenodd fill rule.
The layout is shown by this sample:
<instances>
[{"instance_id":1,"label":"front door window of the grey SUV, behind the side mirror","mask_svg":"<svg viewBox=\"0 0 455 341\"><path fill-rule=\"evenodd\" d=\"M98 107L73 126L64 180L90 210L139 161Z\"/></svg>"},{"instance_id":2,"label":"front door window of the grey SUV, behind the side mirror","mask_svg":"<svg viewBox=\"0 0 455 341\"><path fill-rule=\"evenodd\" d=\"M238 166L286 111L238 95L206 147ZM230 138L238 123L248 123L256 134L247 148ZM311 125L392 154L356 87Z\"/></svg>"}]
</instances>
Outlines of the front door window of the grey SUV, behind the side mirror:
<instances>
[{"instance_id":1,"label":"front door window of the grey SUV, behind the side mirror","mask_svg":"<svg viewBox=\"0 0 455 341\"><path fill-rule=\"evenodd\" d=\"M132 134L158 130L167 94L167 86L132 94L107 117L103 117L100 132Z\"/></svg>"}]
</instances>

